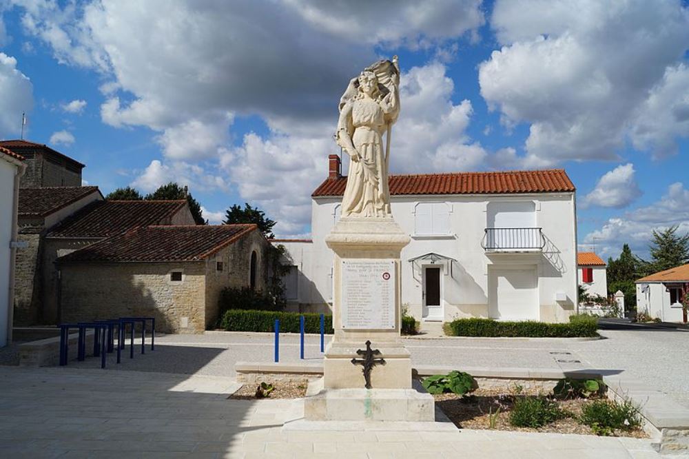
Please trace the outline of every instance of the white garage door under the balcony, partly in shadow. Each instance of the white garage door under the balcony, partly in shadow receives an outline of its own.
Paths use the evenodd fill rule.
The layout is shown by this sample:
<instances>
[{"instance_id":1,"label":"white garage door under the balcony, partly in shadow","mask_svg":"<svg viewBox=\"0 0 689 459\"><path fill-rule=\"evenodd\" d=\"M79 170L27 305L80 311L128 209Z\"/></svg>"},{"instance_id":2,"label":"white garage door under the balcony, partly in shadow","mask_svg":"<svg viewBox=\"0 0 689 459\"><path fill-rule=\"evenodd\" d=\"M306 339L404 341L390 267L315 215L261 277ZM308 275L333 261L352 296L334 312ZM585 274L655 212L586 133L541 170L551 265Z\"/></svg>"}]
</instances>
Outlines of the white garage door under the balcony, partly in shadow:
<instances>
[{"instance_id":1,"label":"white garage door under the balcony, partly in shadow","mask_svg":"<svg viewBox=\"0 0 689 459\"><path fill-rule=\"evenodd\" d=\"M491 318L538 320L535 267L489 269L489 307Z\"/></svg>"}]
</instances>

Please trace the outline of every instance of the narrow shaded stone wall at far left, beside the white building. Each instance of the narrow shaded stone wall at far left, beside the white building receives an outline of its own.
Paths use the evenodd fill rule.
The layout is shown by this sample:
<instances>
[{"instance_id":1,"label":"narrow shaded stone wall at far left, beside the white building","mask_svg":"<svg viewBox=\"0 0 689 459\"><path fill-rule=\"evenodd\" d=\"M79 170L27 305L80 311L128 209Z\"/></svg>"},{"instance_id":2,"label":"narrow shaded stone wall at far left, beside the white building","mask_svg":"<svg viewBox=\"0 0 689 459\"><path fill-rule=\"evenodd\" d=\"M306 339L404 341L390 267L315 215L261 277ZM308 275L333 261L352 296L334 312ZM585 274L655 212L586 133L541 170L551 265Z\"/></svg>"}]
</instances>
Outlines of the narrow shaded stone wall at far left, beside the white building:
<instances>
[{"instance_id":1,"label":"narrow shaded stone wall at far left, beside the white building","mask_svg":"<svg viewBox=\"0 0 689 459\"><path fill-rule=\"evenodd\" d=\"M36 325L41 310L41 234L20 232L19 242L27 247L17 249L14 263L14 325Z\"/></svg>"}]
</instances>

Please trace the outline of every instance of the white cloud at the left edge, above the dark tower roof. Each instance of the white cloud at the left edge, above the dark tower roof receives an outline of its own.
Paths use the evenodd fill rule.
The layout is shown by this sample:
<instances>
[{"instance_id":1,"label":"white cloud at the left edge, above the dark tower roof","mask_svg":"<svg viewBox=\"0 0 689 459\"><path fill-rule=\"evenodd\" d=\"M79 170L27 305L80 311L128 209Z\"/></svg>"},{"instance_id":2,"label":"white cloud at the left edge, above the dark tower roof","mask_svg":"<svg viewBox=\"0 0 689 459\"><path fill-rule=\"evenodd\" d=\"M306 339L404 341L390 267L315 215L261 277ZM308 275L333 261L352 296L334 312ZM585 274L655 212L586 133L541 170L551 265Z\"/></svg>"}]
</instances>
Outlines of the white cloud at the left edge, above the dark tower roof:
<instances>
[{"instance_id":1,"label":"white cloud at the left edge, above the dark tower roof","mask_svg":"<svg viewBox=\"0 0 689 459\"><path fill-rule=\"evenodd\" d=\"M19 138L22 112L33 107L31 81L17 69L17 59L0 52L0 139Z\"/></svg>"}]
</instances>

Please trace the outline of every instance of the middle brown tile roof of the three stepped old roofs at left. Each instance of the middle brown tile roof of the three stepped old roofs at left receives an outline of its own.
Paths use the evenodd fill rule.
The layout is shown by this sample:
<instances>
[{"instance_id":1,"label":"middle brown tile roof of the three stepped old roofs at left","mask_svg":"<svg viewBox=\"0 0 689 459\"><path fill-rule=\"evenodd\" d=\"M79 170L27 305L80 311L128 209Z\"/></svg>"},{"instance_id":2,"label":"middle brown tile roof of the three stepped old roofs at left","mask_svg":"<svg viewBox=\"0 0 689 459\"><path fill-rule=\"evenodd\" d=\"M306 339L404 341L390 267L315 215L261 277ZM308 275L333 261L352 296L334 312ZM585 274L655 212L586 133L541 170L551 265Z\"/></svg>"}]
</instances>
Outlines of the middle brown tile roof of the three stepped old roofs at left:
<instances>
[{"instance_id":1,"label":"middle brown tile roof of the three stepped old roofs at left","mask_svg":"<svg viewBox=\"0 0 689 459\"><path fill-rule=\"evenodd\" d=\"M52 238L104 238L132 228L169 225L187 205L179 201L95 201L48 231Z\"/></svg>"}]
</instances>

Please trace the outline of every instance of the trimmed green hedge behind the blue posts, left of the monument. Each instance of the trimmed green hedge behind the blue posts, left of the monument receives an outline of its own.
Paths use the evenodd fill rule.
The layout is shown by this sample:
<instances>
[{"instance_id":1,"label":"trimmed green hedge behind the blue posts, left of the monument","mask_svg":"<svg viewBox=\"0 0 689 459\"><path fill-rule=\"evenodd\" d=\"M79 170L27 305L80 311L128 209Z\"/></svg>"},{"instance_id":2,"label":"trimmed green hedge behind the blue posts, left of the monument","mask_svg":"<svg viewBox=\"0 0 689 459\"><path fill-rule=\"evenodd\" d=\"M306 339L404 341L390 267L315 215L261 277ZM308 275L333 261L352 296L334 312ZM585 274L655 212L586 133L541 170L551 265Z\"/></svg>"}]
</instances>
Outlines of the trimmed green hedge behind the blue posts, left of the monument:
<instances>
[{"instance_id":1,"label":"trimmed green hedge behind the blue posts, left of the monument","mask_svg":"<svg viewBox=\"0 0 689 459\"><path fill-rule=\"evenodd\" d=\"M280 332L299 333L299 316L304 316L307 333L320 333L320 314L298 312L247 311L229 309L220 320L228 332L274 332L275 319L280 319ZM333 316L325 315L325 333L333 333Z\"/></svg>"}]
</instances>

